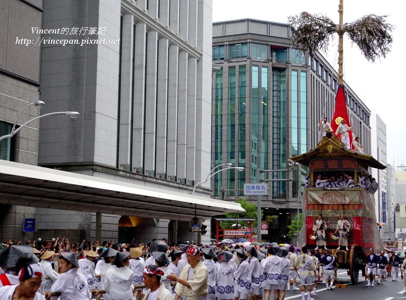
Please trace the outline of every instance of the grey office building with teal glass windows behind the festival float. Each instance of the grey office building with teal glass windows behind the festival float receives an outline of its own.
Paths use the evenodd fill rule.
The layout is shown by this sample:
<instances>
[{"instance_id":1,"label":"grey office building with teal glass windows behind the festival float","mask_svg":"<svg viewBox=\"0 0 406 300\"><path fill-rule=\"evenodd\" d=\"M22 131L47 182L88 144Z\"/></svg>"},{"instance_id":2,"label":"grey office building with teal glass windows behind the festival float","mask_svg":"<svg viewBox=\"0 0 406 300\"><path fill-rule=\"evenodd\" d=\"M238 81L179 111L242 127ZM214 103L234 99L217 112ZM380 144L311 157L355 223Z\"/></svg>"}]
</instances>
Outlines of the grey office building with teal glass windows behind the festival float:
<instances>
[{"instance_id":1,"label":"grey office building with teal glass windows behind the festival float","mask_svg":"<svg viewBox=\"0 0 406 300\"><path fill-rule=\"evenodd\" d=\"M246 167L245 172L218 174L212 185L216 197L244 197L244 183L265 178L260 169L286 169L289 157L317 145L317 124L332 117L336 71L320 53L307 57L291 48L291 36L288 24L254 19L213 23L212 162ZM370 154L370 110L345 86L353 133ZM303 167L300 178L293 172L293 182L269 184L269 195L262 199L269 232L286 233L301 205L298 188L306 172ZM269 173L268 178L287 176Z\"/></svg>"}]
</instances>

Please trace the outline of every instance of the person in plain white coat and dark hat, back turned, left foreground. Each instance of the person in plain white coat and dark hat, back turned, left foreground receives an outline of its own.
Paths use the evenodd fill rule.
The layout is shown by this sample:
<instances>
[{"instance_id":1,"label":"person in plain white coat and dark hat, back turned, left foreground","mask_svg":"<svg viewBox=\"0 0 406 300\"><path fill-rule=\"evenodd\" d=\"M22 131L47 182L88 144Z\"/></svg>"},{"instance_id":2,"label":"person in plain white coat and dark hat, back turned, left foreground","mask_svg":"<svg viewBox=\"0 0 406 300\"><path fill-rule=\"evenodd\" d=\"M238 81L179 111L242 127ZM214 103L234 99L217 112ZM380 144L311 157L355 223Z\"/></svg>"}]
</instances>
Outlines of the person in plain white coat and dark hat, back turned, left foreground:
<instances>
[{"instance_id":1,"label":"person in plain white coat and dark hat, back turned, left foreground","mask_svg":"<svg viewBox=\"0 0 406 300\"><path fill-rule=\"evenodd\" d=\"M113 300L133 300L132 271L128 267L130 252L117 252L112 267L103 280L105 290Z\"/></svg>"}]
</instances>

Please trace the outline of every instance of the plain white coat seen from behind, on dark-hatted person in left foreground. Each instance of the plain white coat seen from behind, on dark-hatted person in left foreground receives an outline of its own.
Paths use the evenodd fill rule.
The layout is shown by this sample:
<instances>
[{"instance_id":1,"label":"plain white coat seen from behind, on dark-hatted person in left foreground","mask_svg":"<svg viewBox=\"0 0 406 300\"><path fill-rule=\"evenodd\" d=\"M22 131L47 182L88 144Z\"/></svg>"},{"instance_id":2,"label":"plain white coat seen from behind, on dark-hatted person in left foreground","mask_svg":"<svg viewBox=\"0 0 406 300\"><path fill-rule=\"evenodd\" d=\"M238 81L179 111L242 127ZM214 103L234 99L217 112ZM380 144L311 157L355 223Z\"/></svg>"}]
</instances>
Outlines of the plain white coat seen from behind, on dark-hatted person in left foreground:
<instances>
[{"instance_id":1,"label":"plain white coat seen from behind, on dark-hatted person in left foreground","mask_svg":"<svg viewBox=\"0 0 406 300\"><path fill-rule=\"evenodd\" d=\"M105 290L110 298L113 300L133 300L132 277L132 271L127 266L110 268L103 279Z\"/></svg>"}]
</instances>

